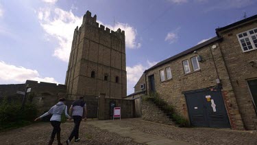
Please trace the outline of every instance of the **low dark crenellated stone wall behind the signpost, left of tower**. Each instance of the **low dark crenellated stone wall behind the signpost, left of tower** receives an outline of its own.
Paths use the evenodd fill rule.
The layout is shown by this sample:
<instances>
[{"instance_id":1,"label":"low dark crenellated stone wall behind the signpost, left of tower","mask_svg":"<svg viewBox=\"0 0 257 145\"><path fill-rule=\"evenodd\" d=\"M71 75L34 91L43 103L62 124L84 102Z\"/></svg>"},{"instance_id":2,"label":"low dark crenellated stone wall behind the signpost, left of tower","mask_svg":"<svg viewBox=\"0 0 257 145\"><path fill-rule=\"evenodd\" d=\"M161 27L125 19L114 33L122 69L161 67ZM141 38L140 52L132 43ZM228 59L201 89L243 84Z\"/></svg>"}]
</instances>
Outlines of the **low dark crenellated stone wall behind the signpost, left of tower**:
<instances>
[{"instance_id":1,"label":"low dark crenellated stone wall behind the signpost, left of tower","mask_svg":"<svg viewBox=\"0 0 257 145\"><path fill-rule=\"evenodd\" d=\"M58 102L59 98L66 98L65 85L57 85L49 82L38 83L38 81L34 80L27 80L25 84L0 85L0 98L6 96L12 100L22 102L23 95L17 94L16 91L24 92L27 85L29 85L29 88L32 88L32 91L29 93L34 93L32 102L36 104L38 113L48 111Z\"/></svg>"}]
</instances>

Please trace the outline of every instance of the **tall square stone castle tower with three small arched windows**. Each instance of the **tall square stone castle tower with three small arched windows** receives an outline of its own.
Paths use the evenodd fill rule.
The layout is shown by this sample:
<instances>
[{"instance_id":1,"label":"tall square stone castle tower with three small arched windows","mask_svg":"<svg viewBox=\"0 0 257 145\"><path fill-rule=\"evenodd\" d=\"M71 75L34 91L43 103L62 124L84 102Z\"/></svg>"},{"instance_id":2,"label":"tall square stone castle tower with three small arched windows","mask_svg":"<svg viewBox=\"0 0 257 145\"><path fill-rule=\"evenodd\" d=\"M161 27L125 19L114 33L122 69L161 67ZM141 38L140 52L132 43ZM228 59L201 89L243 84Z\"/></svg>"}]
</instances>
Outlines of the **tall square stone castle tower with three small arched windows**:
<instances>
[{"instance_id":1,"label":"tall square stone castle tower with three small arched windows","mask_svg":"<svg viewBox=\"0 0 257 145\"><path fill-rule=\"evenodd\" d=\"M89 11L73 35L65 84L68 98L99 96L123 98L127 95L125 32L111 31L97 23Z\"/></svg>"}]
</instances>

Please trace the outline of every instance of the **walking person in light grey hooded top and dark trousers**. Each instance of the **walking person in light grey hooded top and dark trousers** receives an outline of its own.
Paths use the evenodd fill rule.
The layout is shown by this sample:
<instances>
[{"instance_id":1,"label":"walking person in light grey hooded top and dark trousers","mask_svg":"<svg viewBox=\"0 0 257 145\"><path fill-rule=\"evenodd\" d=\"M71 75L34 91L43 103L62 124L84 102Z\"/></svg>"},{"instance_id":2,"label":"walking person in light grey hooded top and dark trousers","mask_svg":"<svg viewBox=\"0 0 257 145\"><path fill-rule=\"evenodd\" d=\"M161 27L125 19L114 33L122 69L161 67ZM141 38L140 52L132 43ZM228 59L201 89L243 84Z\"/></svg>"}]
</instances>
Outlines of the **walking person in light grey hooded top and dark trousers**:
<instances>
[{"instance_id":1,"label":"walking person in light grey hooded top and dark trousers","mask_svg":"<svg viewBox=\"0 0 257 145\"><path fill-rule=\"evenodd\" d=\"M51 109L41 115L39 118L35 119L35 122L37 120L40 120L41 118L52 114L52 117L50 119L51 125L53 126L53 131L51 133L51 139L49 140L49 145L53 144L53 140L54 138L57 136L57 141L58 141L58 145L62 145L61 143L61 137L60 137L60 133L61 133L61 128L60 128L60 124L61 124L61 117L62 117L62 113L64 112L66 115L66 118L71 118L68 113L67 113L67 106L65 105L65 99L64 98L60 98L59 102L54 105L53 107L51 107Z\"/></svg>"}]
</instances>

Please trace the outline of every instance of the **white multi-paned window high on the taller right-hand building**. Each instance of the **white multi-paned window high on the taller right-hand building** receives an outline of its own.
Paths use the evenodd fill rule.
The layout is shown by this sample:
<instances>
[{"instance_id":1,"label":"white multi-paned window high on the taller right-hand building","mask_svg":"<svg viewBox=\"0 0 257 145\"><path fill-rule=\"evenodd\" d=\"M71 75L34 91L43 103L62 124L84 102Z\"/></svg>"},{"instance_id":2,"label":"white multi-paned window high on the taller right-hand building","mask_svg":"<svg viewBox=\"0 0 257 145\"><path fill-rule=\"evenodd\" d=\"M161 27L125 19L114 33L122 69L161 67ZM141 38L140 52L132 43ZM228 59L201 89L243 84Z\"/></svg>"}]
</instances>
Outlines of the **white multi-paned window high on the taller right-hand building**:
<instances>
[{"instance_id":1,"label":"white multi-paned window high on the taller right-hand building","mask_svg":"<svg viewBox=\"0 0 257 145\"><path fill-rule=\"evenodd\" d=\"M243 52L257 49L257 27L236 35Z\"/></svg>"}]
</instances>

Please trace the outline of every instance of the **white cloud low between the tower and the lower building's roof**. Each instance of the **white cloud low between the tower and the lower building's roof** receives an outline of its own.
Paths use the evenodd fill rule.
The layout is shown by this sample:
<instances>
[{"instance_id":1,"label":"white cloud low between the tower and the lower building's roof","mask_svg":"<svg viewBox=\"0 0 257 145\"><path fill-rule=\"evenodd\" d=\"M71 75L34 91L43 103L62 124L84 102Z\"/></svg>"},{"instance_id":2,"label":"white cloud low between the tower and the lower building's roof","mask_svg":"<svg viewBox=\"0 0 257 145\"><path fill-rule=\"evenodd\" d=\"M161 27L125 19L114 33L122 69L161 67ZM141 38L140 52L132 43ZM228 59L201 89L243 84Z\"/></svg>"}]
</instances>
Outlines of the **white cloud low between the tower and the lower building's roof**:
<instances>
[{"instance_id":1,"label":"white cloud low between the tower and the lower building's roof","mask_svg":"<svg viewBox=\"0 0 257 145\"><path fill-rule=\"evenodd\" d=\"M133 67L126 67L127 69L127 93L134 92L134 86L138 82L139 78L142 76L143 72L149 67L156 65L157 62L150 62L147 60L147 65L142 64L134 65Z\"/></svg>"}]
</instances>

